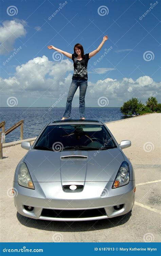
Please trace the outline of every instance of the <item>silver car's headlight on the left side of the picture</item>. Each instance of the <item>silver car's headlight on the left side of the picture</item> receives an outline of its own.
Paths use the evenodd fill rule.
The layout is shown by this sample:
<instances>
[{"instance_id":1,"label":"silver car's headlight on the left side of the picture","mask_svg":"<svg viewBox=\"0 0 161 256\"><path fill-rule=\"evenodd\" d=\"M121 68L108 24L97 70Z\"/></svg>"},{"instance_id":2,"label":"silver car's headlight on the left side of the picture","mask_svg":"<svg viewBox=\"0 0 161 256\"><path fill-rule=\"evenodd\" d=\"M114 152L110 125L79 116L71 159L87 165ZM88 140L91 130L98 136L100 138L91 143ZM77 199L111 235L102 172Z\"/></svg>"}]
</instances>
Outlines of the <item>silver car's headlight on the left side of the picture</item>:
<instances>
[{"instance_id":1,"label":"silver car's headlight on the left side of the picture","mask_svg":"<svg viewBox=\"0 0 161 256\"><path fill-rule=\"evenodd\" d=\"M28 167L26 166L25 163L22 163L20 165L20 169L18 173L18 184L22 187L35 189Z\"/></svg>"}]
</instances>

